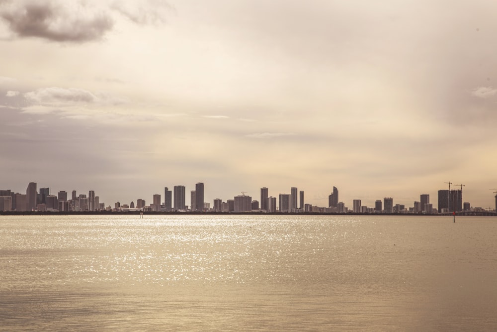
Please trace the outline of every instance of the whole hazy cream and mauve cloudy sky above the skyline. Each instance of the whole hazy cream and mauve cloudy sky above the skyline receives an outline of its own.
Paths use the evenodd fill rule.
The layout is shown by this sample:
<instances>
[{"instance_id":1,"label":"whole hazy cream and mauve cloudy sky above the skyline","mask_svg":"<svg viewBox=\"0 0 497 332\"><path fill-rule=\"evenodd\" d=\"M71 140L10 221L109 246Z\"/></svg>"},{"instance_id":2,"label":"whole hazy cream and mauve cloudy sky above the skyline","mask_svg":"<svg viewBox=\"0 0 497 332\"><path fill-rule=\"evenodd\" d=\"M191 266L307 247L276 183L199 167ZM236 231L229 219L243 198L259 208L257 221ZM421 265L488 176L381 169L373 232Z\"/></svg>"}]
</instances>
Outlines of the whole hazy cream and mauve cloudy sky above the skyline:
<instances>
[{"instance_id":1,"label":"whole hazy cream and mauve cloudy sky above the skyline","mask_svg":"<svg viewBox=\"0 0 497 332\"><path fill-rule=\"evenodd\" d=\"M497 1L0 0L0 189L494 207ZM187 195L187 204L189 195Z\"/></svg>"}]
</instances>

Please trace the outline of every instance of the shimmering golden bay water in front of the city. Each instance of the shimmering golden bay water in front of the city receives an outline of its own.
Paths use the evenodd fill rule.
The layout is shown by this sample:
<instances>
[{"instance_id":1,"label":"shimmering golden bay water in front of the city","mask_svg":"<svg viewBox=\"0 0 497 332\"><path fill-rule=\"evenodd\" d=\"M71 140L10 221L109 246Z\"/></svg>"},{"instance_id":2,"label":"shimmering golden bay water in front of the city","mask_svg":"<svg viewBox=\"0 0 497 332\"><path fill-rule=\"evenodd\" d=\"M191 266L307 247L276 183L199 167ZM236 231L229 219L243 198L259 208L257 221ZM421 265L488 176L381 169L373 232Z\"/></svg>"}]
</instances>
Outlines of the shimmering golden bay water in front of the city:
<instances>
[{"instance_id":1,"label":"shimmering golden bay water in front of the city","mask_svg":"<svg viewBox=\"0 0 497 332\"><path fill-rule=\"evenodd\" d=\"M0 217L0 331L496 331L491 217Z\"/></svg>"}]
</instances>

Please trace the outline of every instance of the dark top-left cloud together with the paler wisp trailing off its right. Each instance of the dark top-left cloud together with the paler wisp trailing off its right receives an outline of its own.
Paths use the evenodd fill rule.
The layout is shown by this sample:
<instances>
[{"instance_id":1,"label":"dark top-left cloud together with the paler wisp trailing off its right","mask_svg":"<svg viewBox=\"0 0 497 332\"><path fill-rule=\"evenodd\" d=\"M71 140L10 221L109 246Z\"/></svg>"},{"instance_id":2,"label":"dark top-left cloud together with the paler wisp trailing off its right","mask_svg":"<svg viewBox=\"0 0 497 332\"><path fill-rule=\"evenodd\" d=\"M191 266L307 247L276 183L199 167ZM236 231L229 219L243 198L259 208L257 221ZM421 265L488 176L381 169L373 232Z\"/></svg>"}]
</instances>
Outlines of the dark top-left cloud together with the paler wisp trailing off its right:
<instances>
[{"instance_id":1,"label":"dark top-left cloud together with the paler wisp trailing off its right","mask_svg":"<svg viewBox=\"0 0 497 332\"><path fill-rule=\"evenodd\" d=\"M163 0L0 0L0 20L20 38L56 42L101 40L115 25L115 14L135 24L164 23L172 9Z\"/></svg>"}]
</instances>

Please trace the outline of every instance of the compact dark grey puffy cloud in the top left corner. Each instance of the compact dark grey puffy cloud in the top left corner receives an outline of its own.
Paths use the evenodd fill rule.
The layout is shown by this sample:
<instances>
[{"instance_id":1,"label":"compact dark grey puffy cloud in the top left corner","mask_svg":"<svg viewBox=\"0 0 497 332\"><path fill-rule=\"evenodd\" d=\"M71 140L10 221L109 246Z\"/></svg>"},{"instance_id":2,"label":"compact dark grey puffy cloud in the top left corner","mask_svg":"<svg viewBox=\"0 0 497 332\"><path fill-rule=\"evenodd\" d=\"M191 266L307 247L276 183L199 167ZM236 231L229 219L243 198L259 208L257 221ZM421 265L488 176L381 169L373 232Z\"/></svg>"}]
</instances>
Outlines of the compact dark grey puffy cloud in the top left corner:
<instances>
[{"instance_id":1,"label":"compact dark grey puffy cloud in the top left corner","mask_svg":"<svg viewBox=\"0 0 497 332\"><path fill-rule=\"evenodd\" d=\"M39 37L59 42L101 39L112 29L108 13L84 2L71 5L60 1L2 1L0 18L19 37Z\"/></svg>"}]
</instances>

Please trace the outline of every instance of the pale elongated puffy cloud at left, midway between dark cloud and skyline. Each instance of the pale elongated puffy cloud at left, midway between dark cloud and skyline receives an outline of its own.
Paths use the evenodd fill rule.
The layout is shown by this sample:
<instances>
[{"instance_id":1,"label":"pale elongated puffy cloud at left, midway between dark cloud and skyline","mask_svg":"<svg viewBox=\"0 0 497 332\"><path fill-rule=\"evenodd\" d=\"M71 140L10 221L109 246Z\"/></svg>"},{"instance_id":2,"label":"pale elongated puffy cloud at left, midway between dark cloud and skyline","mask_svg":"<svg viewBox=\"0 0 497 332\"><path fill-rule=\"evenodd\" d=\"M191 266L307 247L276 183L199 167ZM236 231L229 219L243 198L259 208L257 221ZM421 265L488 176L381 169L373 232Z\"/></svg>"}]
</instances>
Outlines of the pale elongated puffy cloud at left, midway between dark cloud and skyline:
<instances>
[{"instance_id":1,"label":"pale elongated puffy cloud at left, midway between dark cloud and skyline","mask_svg":"<svg viewBox=\"0 0 497 332\"><path fill-rule=\"evenodd\" d=\"M24 94L24 98L39 105L99 104L117 105L125 101L102 93L92 93L83 89L50 87Z\"/></svg>"}]
</instances>

